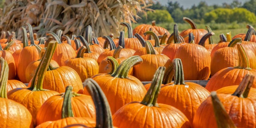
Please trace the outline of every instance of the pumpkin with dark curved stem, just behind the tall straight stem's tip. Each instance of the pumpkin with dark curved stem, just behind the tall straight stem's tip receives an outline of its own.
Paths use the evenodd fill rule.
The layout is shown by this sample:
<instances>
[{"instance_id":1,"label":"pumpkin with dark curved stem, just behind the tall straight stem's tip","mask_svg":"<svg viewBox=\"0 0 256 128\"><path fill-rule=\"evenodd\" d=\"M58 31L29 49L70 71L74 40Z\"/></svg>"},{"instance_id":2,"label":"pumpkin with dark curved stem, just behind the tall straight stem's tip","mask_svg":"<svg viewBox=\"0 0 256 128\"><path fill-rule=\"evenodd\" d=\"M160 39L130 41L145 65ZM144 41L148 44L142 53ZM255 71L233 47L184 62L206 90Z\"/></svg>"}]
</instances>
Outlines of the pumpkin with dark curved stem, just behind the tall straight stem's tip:
<instances>
[{"instance_id":1,"label":"pumpkin with dark curved stem, just behind the tall straight stem's tip","mask_svg":"<svg viewBox=\"0 0 256 128\"><path fill-rule=\"evenodd\" d=\"M64 66L66 60L76 56L76 52L72 46L62 43L55 33L46 32L46 35L52 36L58 42L57 48L52 56L52 60L55 60L60 66Z\"/></svg>"}]
</instances>

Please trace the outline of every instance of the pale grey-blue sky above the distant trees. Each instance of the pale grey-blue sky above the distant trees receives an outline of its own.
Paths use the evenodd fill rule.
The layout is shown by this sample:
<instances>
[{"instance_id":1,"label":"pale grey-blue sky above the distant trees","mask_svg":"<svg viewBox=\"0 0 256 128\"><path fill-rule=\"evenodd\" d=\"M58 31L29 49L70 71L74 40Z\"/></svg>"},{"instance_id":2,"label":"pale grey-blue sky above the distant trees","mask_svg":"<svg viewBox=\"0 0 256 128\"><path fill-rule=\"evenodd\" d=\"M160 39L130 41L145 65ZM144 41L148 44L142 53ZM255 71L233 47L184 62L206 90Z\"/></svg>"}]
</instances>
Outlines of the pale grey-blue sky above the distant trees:
<instances>
[{"instance_id":1,"label":"pale grey-blue sky above the distant trees","mask_svg":"<svg viewBox=\"0 0 256 128\"><path fill-rule=\"evenodd\" d=\"M168 2L168 0L158 0L158 1L163 5L166 5ZM180 5L183 6L184 8L190 8L194 4L198 5L200 1L205 1L208 5L213 5L213 4L222 5L222 3L224 2L230 4L234 0L170 0L170 1L178 1ZM238 0L238 1L242 2L243 4L244 2L247 2L250 0Z\"/></svg>"}]
</instances>

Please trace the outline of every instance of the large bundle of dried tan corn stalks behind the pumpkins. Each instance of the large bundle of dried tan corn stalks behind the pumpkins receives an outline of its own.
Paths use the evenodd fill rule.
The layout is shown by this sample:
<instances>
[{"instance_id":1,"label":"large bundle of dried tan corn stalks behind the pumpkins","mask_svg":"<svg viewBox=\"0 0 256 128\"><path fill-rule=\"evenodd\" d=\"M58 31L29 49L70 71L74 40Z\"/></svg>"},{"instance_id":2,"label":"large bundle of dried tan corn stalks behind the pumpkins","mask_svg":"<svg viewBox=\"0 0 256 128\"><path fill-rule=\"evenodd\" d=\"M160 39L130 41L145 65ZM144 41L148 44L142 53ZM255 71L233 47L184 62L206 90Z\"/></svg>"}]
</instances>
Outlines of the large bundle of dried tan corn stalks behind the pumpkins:
<instances>
[{"instance_id":1,"label":"large bundle of dried tan corn stalks behind the pumpkins","mask_svg":"<svg viewBox=\"0 0 256 128\"><path fill-rule=\"evenodd\" d=\"M118 36L120 22L135 22L153 0L6 0L0 30L18 32L30 23L38 35L63 30L63 34L85 34L92 26L94 36ZM21 33L21 32L19 32Z\"/></svg>"}]
</instances>

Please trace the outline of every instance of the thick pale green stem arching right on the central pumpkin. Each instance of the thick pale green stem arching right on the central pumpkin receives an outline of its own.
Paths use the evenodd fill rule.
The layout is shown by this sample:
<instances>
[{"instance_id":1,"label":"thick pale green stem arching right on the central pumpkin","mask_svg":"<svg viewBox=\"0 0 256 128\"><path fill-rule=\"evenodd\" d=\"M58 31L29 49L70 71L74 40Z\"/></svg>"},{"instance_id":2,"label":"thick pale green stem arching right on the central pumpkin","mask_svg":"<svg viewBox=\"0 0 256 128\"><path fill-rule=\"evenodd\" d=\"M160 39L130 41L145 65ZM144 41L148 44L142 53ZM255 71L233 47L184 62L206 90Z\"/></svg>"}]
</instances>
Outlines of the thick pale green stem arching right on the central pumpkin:
<instances>
[{"instance_id":1,"label":"thick pale green stem arching right on the central pumpkin","mask_svg":"<svg viewBox=\"0 0 256 128\"><path fill-rule=\"evenodd\" d=\"M140 56L131 56L124 60L111 76L118 78L127 78L130 68L132 68L136 64L140 64L141 62L142 58Z\"/></svg>"}]
</instances>

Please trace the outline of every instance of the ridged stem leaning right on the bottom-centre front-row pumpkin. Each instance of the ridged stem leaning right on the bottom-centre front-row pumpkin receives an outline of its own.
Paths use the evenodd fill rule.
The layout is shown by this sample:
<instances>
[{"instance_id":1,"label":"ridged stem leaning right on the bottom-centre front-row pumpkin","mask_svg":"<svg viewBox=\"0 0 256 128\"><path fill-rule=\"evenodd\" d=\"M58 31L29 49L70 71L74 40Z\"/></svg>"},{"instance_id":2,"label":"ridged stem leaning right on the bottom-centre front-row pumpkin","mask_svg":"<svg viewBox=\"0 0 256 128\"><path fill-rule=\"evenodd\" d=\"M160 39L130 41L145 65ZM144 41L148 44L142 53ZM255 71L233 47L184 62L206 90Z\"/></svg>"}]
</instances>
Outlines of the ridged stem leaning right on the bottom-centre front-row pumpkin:
<instances>
[{"instance_id":1,"label":"ridged stem leaning right on the bottom-centre front-row pumpkin","mask_svg":"<svg viewBox=\"0 0 256 128\"><path fill-rule=\"evenodd\" d=\"M164 78L164 70L165 67L160 66L152 79L150 88L148 89L148 92L146 93L145 97L143 98L142 102L140 104L144 104L146 106L152 107L159 107L158 104L156 103L158 94L160 92L162 80Z\"/></svg>"}]
</instances>

